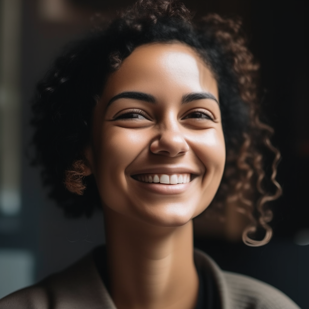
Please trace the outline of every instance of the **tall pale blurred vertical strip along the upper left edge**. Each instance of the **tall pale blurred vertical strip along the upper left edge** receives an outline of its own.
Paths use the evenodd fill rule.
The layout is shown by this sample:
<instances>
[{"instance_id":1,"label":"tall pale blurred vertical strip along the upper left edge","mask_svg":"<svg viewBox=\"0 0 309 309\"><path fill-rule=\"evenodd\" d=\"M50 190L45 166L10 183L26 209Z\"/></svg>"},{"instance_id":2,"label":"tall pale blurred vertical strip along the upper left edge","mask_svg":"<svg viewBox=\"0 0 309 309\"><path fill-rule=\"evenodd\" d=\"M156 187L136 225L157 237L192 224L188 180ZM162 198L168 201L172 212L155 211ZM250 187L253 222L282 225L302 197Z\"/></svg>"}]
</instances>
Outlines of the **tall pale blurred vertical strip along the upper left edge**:
<instances>
[{"instance_id":1,"label":"tall pale blurred vertical strip along the upper left edge","mask_svg":"<svg viewBox=\"0 0 309 309\"><path fill-rule=\"evenodd\" d=\"M0 213L14 216L21 208L21 0L0 4Z\"/></svg>"}]
</instances>

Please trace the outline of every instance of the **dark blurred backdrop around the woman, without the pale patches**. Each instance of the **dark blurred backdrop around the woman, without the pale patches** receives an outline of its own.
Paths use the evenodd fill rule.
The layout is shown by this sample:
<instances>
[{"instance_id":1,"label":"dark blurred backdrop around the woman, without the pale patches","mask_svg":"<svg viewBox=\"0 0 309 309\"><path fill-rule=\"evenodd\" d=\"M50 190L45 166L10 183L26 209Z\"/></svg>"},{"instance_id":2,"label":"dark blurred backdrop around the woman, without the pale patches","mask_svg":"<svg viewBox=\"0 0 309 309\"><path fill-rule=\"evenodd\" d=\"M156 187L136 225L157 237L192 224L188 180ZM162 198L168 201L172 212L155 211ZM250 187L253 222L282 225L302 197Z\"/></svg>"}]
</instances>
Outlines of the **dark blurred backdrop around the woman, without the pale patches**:
<instances>
[{"instance_id":1,"label":"dark blurred backdrop around the woman, without the pale patches","mask_svg":"<svg viewBox=\"0 0 309 309\"><path fill-rule=\"evenodd\" d=\"M29 166L26 149L31 137L30 105L37 80L63 46L87 33L90 16L101 11L107 19L133 1L70 0L73 18L46 19L34 0L23 2L23 208L19 216L1 218L0 247L25 248L36 256L36 280L57 271L104 242L100 212L91 219L63 218L46 198L39 170ZM275 128L273 143L282 155L277 179L283 196L273 203L274 237L260 248L242 243L197 238L226 270L248 274L276 286L300 307L309 308L309 245L294 243L309 229L308 172L308 15L306 1L203 0L183 1L196 15L216 12L240 16L250 48L261 64L262 106ZM77 17L76 17L77 16Z\"/></svg>"}]
</instances>

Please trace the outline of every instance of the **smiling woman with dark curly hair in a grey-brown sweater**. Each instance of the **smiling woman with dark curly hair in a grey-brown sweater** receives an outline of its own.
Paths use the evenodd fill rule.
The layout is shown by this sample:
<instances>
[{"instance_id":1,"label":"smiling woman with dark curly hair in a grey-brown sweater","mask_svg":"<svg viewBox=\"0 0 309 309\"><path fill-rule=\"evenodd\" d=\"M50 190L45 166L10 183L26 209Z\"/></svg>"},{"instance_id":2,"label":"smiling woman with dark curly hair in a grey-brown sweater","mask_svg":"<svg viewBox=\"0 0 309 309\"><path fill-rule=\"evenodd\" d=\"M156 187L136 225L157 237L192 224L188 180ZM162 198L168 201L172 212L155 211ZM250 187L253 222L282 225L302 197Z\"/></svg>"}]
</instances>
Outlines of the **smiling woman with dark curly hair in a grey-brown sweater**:
<instances>
[{"instance_id":1,"label":"smiling woman with dark curly hair in a grey-brown sweater","mask_svg":"<svg viewBox=\"0 0 309 309\"><path fill-rule=\"evenodd\" d=\"M58 58L37 88L37 163L67 215L103 208L106 248L0 307L298 308L193 249L192 220L210 204L240 205L248 245L271 237L264 204L281 194L279 154L258 120L256 72L239 23L193 24L173 0L138 1ZM273 195L265 150L275 154ZM257 227L263 240L252 238Z\"/></svg>"}]
</instances>

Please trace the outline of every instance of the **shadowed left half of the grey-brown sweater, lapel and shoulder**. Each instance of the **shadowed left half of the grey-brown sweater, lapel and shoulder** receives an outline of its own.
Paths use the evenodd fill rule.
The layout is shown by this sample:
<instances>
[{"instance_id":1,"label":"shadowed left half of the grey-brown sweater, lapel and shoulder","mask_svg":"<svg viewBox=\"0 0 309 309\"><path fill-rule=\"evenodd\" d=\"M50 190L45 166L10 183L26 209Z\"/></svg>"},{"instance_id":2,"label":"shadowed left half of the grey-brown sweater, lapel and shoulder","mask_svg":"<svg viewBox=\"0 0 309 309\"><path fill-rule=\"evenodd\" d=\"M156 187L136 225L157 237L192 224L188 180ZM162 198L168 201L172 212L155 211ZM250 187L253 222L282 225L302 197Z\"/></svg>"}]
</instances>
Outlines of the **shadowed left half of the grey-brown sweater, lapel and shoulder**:
<instances>
[{"instance_id":1,"label":"shadowed left half of the grey-brown sweater, lapel and shoulder","mask_svg":"<svg viewBox=\"0 0 309 309\"><path fill-rule=\"evenodd\" d=\"M88 255L60 273L0 300L0 309L112 308L109 295Z\"/></svg>"}]
</instances>

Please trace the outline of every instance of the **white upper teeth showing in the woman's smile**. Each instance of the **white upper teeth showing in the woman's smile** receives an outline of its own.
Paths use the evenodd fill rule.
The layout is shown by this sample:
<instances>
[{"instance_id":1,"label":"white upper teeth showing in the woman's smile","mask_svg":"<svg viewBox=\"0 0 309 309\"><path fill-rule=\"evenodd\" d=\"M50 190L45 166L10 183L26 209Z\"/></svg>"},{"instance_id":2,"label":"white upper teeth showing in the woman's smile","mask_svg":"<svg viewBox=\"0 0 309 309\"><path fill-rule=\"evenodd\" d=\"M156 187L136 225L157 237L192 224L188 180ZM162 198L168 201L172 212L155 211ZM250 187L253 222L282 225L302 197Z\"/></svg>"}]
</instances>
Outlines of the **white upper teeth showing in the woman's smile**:
<instances>
[{"instance_id":1,"label":"white upper teeth showing in the woman's smile","mask_svg":"<svg viewBox=\"0 0 309 309\"><path fill-rule=\"evenodd\" d=\"M191 174L140 174L136 177L139 181L159 182L161 184L186 184L191 180Z\"/></svg>"}]
</instances>

